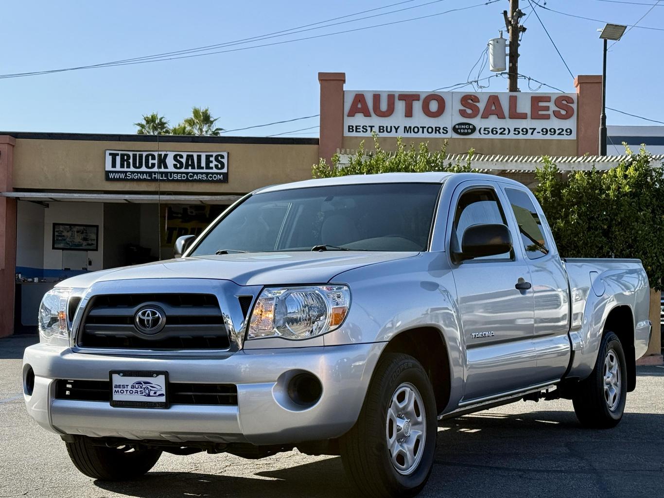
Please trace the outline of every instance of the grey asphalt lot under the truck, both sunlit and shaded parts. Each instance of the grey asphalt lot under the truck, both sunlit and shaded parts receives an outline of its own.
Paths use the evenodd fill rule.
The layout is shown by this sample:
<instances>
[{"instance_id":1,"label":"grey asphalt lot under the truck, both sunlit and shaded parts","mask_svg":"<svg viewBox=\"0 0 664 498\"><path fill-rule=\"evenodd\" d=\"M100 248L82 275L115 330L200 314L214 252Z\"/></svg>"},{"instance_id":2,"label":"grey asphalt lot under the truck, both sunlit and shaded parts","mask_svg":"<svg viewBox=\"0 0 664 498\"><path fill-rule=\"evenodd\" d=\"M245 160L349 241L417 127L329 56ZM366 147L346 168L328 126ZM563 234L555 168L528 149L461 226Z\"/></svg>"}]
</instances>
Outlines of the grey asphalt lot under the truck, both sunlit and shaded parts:
<instances>
[{"instance_id":1,"label":"grey asphalt lot under the truck, both sunlit and shaded parts","mask_svg":"<svg viewBox=\"0 0 664 498\"><path fill-rule=\"evenodd\" d=\"M296 450L260 460L163 454L139 481L94 481L25 411L21 357L34 341L0 340L0 498L357 496L339 457ZM580 428L567 400L521 401L442 422L420 496L663 497L664 368L639 367L637 374L625 416L611 430Z\"/></svg>"}]
</instances>

